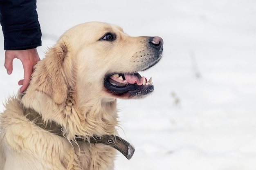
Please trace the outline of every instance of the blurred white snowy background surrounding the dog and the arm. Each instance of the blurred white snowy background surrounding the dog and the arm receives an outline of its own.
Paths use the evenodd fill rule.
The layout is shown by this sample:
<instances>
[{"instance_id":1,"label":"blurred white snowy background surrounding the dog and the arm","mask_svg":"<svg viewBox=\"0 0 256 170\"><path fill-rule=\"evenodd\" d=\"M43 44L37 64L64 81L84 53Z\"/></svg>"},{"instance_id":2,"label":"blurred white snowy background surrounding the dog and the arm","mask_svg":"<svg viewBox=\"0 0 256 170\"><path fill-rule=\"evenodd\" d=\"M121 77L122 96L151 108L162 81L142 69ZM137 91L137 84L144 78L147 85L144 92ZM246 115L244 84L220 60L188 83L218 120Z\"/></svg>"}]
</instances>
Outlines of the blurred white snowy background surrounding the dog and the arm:
<instances>
[{"instance_id":1,"label":"blurred white snowy background surrounding the dog and the arm","mask_svg":"<svg viewBox=\"0 0 256 170\"><path fill-rule=\"evenodd\" d=\"M155 92L118 100L120 136L135 146L115 170L256 170L255 0L38 0L43 58L70 27L117 24L131 36L164 39L162 60L142 76ZM0 37L0 100L18 91L15 60L4 68ZM0 110L4 109L2 103Z\"/></svg>"}]
</instances>

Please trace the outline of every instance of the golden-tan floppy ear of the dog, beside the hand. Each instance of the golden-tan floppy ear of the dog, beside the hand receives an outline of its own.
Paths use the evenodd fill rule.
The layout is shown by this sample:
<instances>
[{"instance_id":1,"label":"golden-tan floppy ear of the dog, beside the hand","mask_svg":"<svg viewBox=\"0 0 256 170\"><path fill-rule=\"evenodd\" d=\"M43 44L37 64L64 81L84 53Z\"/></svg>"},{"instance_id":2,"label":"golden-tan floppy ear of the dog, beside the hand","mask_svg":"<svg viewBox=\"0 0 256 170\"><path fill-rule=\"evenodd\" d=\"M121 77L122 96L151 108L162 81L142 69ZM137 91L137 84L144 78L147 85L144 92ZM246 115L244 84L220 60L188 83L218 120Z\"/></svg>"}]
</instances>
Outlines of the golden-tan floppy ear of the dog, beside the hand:
<instances>
[{"instance_id":1,"label":"golden-tan floppy ear of the dog, beside the hand","mask_svg":"<svg viewBox=\"0 0 256 170\"><path fill-rule=\"evenodd\" d=\"M68 84L63 68L67 55L67 45L59 43L49 49L45 58L36 65L40 68L36 76L37 90L51 97L56 104L67 99Z\"/></svg>"}]
</instances>

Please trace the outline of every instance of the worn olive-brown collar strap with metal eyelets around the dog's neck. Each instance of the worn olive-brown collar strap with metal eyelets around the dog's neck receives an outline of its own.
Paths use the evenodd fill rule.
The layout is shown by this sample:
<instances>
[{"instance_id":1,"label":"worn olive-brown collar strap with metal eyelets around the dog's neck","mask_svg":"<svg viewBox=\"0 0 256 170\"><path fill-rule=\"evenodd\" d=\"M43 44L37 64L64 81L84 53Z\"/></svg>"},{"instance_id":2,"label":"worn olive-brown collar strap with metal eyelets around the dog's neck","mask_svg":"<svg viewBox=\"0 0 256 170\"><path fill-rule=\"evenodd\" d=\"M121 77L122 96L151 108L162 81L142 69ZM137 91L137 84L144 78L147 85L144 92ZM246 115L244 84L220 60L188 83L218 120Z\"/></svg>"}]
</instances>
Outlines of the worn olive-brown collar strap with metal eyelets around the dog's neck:
<instances>
[{"instance_id":1,"label":"worn olive-brown collar strap with metal eyelets around the dog's neck","mask_svg":"<svg viewBox=\"0 0 256 170\"><path fill-rule=\"evenodd\" d=\"M65 128L58 125L56 122L48 122L45 124L43 119L39 113L31 108L23 108L23 115L27 117L30 121L34 122L34 124L44 130L47 130L55 135L64 137L63 132L65 132ZM135 148L132 144L129 144L128 141L122 139L121 137L115 135L101 135L97 136L94 135L90 138L86 138L83 136L76 135L76 141L82 141L85 143L92 143L92 144L104 144L111 146L121 152L127 159L131 159Z\"/></svg>"}]
</instances>

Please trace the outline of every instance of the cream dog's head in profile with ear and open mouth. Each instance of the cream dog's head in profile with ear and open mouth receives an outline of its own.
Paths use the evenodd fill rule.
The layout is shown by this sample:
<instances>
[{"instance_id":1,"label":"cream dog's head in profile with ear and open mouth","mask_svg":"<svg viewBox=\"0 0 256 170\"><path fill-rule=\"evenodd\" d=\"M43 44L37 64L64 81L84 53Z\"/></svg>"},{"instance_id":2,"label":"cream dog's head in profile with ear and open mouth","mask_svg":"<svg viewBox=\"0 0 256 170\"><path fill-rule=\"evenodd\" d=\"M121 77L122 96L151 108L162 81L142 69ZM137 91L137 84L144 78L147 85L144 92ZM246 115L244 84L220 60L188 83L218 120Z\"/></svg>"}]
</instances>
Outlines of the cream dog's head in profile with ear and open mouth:
<instances>
[{"instance_id":1,"label":"cream dog's head in profile with ear and open mouth","mask_svg":"<svg viewBox=\"0 0 256 170\"><path fill-rule=\"evenodd\" d=\"M130 37L120 27L101 22L79 24L66 31L36 65L36 71L43 71L32 82L56 104L65 102L72 90L78 101L92 96L144 97L154 88L138 72L154 66L162 50L160 37Z\"/></svg>"}]
</instances>

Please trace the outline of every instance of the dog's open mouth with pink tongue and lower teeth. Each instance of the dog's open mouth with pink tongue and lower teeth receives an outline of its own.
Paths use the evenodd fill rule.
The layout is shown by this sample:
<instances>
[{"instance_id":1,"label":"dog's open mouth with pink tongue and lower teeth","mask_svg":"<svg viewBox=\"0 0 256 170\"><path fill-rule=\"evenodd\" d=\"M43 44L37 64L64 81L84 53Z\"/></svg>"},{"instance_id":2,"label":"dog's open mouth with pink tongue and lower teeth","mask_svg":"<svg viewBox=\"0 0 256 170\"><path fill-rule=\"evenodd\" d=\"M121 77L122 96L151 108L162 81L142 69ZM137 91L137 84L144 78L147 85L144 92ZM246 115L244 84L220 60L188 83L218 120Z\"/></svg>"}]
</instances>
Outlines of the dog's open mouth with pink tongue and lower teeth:
<instances>
[{"instance_id":1,"label":"dog's open mouth with pink tongue and lower teeth","mask_svg":"<svg viewBox=\"0 0 256 170\"><path fill-rule=\"evenodd\" d=\"M115 73L107 75L104 79L104 86L113 95L127 97L140 97L154 91L152 77L147 80L139 73Z\"/></svg>"}]
</instances>

